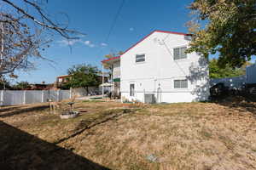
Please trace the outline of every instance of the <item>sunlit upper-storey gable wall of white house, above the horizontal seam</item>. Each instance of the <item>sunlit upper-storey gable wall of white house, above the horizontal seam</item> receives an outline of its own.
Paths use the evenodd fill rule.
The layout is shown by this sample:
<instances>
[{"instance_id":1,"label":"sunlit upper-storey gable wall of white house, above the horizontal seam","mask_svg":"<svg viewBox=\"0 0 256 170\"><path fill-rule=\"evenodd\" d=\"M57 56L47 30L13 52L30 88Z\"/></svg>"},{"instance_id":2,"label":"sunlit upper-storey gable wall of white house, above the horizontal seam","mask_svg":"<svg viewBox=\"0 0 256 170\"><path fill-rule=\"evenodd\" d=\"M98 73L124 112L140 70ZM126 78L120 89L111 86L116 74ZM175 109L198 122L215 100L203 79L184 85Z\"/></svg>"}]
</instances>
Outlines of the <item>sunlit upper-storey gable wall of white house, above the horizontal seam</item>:
<instances>
[{"instance_id":1,"label":"sunlit upper-storey gable wall of white house, above the horizontal seam","mask_svg":"<svg viewBox=\"0 0 256 170\"><path fill-rule=\"evenodd\" d=\"M133 75L137 78L188 75L188 68L191 59L195 58L194 55L188 54L186 59L174 60L173 58L174 48L187 48L188 46L189 40L184 35L154 31L122 54L121 74L124 78L133 77ZM145 61L136 62L137 55L145 55Z\"/></svg>"}]
</instances>

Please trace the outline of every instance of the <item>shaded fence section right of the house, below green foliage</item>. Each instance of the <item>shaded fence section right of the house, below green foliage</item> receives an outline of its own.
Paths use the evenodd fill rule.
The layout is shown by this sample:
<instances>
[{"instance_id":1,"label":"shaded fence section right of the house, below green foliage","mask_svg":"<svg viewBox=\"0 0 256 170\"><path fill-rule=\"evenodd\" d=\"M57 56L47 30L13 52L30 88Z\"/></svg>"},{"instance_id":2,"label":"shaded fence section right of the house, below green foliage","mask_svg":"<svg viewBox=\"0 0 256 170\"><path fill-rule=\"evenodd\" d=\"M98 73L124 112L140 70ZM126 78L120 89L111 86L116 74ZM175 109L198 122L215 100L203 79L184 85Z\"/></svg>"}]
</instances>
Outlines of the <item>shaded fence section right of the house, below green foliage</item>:
<instances>
[{"instance_id":1,"label":"shaded fence section right of the house, below green foliage","mask_svg":"<svg viewBox=\"0 0 256 170\"><path fill-rule=\"evenodd\" d=\"M228 78L215 78L210 80L211 87L218 82L223 82L224 86L229 88L241 88L242 85L246 84L247 77L241 76L241 77L228 77Z\"/></svg>"}]
</instances>

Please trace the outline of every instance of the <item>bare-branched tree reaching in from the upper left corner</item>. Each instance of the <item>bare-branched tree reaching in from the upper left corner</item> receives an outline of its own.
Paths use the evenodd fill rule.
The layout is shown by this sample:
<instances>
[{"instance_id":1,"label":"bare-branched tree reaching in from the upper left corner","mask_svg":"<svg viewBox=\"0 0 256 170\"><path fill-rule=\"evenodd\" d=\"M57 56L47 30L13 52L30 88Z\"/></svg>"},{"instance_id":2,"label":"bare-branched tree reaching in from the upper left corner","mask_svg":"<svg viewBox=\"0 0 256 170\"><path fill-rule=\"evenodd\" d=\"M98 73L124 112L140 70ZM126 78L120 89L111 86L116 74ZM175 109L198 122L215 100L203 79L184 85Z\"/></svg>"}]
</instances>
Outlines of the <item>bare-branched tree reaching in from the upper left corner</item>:
<instances>
[{"instance_id":1,"label":"bare-branched tree reaching in from the upper left corner","mask_svg":"<svg viewBox=\"0 0 256 170\"><path fill-rule=\"evenodd\" d=\"M84 35L75 30L67 29L67 26L61 26L56 21L49 18L41 8L48 3L47 0L38 2L32 0L21 0L26 6L17 5L11 0L0 0L9 5L14 11L4 8L0 10L0 76L11 74L14 75L16 70L27 70L33 68L33 63L29 60L39 58L54 62L40 54L41 50L49 47L47 33L51 31L57 32L61 37L65 37L67 41L78 39L74 35ZM36 11L31 14L29 8ZM34 25L34 27L31 27ZM44 35L43 35L44 33Z\"/></svg>"}]
</instances>

